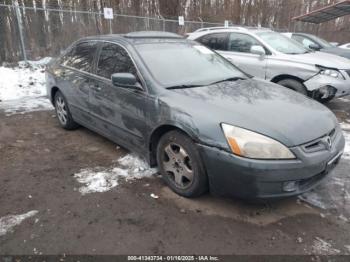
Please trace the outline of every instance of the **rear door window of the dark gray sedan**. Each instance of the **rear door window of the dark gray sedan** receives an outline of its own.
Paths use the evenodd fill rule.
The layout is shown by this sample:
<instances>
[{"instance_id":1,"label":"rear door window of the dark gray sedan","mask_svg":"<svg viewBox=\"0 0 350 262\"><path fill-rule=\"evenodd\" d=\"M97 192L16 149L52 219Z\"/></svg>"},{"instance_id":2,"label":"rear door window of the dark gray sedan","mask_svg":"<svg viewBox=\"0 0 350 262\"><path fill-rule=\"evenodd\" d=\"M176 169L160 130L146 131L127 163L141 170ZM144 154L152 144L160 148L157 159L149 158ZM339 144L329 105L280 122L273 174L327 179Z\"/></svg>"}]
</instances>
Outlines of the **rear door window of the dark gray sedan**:
<instances>
[{"instance_id":1,"label":"rear door window of the dark gray sedan","mask_svg":"<svg viewBox=\"0 0 350 262\"><path fill-rule=\"evenodd\" d=\"M92 72L96 50L96 42L79 43L73 47L68 54L66 54L63 64L81 71Z\"/></svg>"}]
</instances>

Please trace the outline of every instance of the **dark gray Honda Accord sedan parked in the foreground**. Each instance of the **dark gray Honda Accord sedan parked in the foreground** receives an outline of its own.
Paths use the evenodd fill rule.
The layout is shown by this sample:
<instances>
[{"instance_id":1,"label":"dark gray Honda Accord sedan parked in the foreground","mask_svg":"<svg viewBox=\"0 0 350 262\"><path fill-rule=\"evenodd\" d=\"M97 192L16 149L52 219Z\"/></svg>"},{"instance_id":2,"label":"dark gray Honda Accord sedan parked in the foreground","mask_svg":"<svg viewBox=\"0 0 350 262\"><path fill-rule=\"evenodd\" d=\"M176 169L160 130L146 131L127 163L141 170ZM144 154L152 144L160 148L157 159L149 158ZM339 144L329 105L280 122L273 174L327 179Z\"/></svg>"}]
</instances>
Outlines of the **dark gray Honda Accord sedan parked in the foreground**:
<instances>
[{"instance_id":1,"label":"dark gray Honda Accord sedan parked in the foreground","mask_svg":"<svg viewBox=\"0 0 350 262\"><path fill-rule=\"evenodd\" d=\"M144 156L185 197L297 195L344 149L325 106L176 34L83 38L46 76L63 128L85 126Z\"/></svg>"}]
</instances>

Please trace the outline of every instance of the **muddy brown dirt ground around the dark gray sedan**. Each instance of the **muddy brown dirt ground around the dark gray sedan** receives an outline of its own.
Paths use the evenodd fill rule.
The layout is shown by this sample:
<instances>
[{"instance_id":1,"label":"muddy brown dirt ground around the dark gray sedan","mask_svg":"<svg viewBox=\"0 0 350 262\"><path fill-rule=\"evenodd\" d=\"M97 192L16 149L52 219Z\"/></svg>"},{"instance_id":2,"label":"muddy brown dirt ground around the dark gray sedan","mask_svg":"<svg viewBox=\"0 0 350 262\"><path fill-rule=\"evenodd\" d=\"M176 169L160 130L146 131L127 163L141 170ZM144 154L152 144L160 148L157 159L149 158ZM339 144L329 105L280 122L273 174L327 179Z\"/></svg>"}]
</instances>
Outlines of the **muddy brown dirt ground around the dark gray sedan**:
<instances>
[{"instance_id":1,"label":"muddy brown dirt ground around the dark gray sedan","mask_svg":"<svg viewBox=\"0 0 350 262\"><path fill-rule=\"evenodd\" d=\"M329 106L350 119L350 100ZM350 254L348 198L324 209L298 198L190 200L156 174L82 195L75 173L128 152L85 128L65 131L53 115L0 111L0 218L38 211L0 235L0 254ZM342 160L332 176L349 167Z\"/></svg>"}]
</instances>

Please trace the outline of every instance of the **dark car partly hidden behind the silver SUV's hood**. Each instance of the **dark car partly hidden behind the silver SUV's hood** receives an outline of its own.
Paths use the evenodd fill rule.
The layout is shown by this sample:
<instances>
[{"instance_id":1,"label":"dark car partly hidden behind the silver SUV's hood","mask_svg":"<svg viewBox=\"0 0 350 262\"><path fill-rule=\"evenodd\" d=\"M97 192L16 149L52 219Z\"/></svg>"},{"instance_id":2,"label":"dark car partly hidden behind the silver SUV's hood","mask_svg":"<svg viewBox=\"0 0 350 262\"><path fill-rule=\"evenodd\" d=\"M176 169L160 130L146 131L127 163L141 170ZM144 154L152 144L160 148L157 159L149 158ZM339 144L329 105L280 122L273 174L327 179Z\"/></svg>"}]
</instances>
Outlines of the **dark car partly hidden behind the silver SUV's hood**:
<instances>
[{"instance_id":1,"label":"dark car partly hidden behind the silver SUV's hood","mask_svg":"<svg viewBox=\"0 0 350 262\"><path fill-rule=\"evenodd\" d=\"M306 48L310 48L314 51L325 52L333 55L339 55L350 59L350 50L346 50L329 43L326 40L311 34L305 33L284 33L285 36L292 38L299 43L303 44Z\"/></svg>"}]
</instances>

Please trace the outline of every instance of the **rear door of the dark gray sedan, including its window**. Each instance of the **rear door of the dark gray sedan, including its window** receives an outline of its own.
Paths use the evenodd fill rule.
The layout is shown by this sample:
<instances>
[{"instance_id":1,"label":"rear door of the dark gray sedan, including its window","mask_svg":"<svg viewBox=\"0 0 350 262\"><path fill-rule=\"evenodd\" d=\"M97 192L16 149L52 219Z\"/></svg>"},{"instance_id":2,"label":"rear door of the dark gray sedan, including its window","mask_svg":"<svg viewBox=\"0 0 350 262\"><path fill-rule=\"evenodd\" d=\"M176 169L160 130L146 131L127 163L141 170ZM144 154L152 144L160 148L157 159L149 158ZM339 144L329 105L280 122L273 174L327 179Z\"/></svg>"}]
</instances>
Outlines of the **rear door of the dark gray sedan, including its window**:
<instances>
[{"instance_id":1,"label":"rear door of the dark gray sedan, including its window","mask_svg":"<svg viewBox=\"0 0 350 262\"><path fill-rule=\"evenodd\" d=\"M80 122L90 119L89 86L96 53L97 42L80 42L64 56L58 72L58 86L68 101L73 118Z\"/></svg>"}]
</instances>

